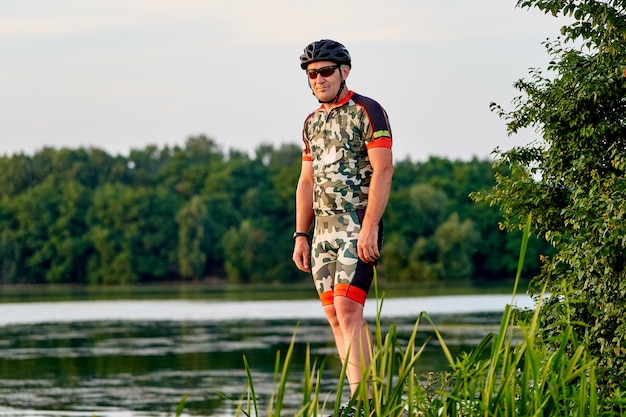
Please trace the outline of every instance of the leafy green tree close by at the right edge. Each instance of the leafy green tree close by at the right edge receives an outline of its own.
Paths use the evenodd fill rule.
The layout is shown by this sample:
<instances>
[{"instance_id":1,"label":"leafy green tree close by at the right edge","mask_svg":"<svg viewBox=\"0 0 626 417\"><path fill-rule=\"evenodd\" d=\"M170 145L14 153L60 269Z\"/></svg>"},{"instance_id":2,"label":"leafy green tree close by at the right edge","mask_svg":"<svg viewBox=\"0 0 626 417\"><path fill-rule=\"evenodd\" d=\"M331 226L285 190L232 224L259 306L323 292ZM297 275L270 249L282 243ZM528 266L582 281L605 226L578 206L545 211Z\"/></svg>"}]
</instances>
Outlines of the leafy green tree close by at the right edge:
<instances>
[{"instance_id":1,"label":"leafy green tree close by at the right edge","mask_svg":"<svg viewBox=\"0 0 626 417\"><path fill-rule=\"evenodd\" d=\"M626 13L622 0L528 0L573 19L546 41L548 75L531 70L512 111L493 108L511 134L534 128L541 139L499 155L510 168L488 200L505 226L532 214L535 234L556 253L534 280L551 294L541 311L548 342L567 326L598 357L604 394L626 376ZM565 301L565 302L563 302Z\"/></svg>"}]
</instances>

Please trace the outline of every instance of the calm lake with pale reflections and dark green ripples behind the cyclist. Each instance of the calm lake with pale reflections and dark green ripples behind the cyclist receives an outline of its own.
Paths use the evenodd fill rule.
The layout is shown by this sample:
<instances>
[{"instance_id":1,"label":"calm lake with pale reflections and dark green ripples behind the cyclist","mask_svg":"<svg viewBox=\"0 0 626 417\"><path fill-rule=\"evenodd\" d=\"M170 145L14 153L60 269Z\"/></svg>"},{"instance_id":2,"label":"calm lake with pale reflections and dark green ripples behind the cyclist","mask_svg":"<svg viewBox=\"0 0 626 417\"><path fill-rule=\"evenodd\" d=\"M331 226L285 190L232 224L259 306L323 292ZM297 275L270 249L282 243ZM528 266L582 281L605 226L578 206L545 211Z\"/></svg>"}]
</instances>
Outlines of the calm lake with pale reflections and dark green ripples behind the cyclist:
<instances>
[{"instance_id":1,"label":"calm lake with pale reflections and dark green ripples behind the cyclist","mask_svg":"<svg viewBox=\"0 0 626 417\"><path fill-rule=\"evenodd\" d=\"M518 295L396 297L383 301L383 331L408 338L427 312L459 353L495 332L507 304L532 308ZM368 300L373 323L376 300ZM319 301L59 301L0 303L0 416L233 416L245 392L243 356L263 402L272 393L276 353L295 333L287 404L301 403L307 344L314 357L334 358ZM420 324L418 344L433 336ZM417 370L446 369L429 341ZM325 371L322 392L334 398L340 364ZM225 399L228 398L228 399Z\"/></svg>"}]
</instances>

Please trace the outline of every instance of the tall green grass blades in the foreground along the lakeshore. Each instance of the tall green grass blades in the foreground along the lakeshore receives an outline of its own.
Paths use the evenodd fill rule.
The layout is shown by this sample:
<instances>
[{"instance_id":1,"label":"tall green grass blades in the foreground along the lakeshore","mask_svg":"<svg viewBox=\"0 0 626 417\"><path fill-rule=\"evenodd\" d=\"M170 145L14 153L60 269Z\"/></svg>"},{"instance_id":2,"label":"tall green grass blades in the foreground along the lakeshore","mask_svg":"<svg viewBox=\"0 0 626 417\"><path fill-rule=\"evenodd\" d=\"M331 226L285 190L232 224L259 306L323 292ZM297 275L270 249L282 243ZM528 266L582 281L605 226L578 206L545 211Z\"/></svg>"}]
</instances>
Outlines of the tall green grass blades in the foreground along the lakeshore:
<instances>
[{"instance_id":1,"label":"tall green grass blades in the foreground along the lakeshore","mask_svg":"<svg viewBox=\"0 0 626 417\"><path fill-rule=\"evenodd\" d=\"M398 338L395 325L383 329L380 317L384 296L379 296L374 330L374 356L363 369L363 380L355 398L364 415L399 416L618 416L626 415L625 395L609 397L596 386L595 361L584 344L574 337L571 327L563 332L559 348L549 349L535 337L541 298L534 311L514 308L514 297L521 275L521 265L528 245L530 217L524 230L511 305L503 312L499 331L489 334L473 350L454 357L436 324L424 312L415 322L408 340ZM415 365L428 343L416 344L423 322L435 329L435 335L447 358L449 371L418 374ZM345 364L333 393L320 392L320 379L329 358L312 358L307 348L302 383L301 407L290 414L284 411L286 382L290 370L296 334L287 352L276 356L275 388L263 409L259 404L250 364L244 357L248 374L247 387L239 398L236 416L319 417L338 415L345 397ZM358 347L363 348L363 347ZM573 352L573 353L572 353ZM373 399L371 403L367 400Z\"/></svg>"}]
</instances>

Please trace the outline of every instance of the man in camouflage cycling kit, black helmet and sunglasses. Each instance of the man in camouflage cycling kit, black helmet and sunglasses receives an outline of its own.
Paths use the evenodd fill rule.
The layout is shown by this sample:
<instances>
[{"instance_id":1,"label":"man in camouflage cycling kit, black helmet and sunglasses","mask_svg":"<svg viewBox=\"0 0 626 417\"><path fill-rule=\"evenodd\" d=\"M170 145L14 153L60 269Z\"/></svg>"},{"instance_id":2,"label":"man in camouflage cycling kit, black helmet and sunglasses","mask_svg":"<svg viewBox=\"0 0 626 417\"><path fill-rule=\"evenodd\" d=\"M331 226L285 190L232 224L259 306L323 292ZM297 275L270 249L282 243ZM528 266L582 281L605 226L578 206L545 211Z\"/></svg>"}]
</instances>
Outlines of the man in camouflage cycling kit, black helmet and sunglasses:
<instances>
[{"instance_id":1,"label":"man in camouflage cycling kit, black helmet and sunglasses","mask_svg":"<svg viewBox=\"0 0 626 417\"><path fill-rule=\"evenodd\" d=\"M321 106L304 122L293 261L313 275L354 396L372 355L363 306L393 175L391 129L376 101L347 88L352 60L342 44L313 42L300 65Z\"/></svg>"}]
</instances>

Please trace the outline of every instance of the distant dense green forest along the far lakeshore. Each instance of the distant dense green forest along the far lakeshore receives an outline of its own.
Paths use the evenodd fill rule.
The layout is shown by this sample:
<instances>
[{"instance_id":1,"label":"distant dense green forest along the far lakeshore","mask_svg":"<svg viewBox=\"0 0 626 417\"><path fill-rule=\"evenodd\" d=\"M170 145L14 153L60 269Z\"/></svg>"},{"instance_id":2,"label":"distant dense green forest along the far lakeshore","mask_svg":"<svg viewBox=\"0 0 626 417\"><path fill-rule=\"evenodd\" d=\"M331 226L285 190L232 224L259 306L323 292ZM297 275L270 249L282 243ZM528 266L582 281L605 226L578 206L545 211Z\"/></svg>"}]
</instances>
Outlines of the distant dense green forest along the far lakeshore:
<instances>
[{"instance_id":1,"label":"distant dense green forest along the far lakeshore","mask_svg":"<svg viewBox=\"0 0 626 417\"><path fill-rule=\"evenodd\" d=\"M212 139L128 156L44 148L0 157L0 284L114 285L207 278L301 282L291 261L300 147L254 156ZM396 162L379 276L394 282L515 275L521 233L470 193L494 185L491 161ZM524 275L549 245L532 240Z\"/></svg>"}]
</instances>

